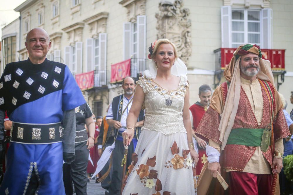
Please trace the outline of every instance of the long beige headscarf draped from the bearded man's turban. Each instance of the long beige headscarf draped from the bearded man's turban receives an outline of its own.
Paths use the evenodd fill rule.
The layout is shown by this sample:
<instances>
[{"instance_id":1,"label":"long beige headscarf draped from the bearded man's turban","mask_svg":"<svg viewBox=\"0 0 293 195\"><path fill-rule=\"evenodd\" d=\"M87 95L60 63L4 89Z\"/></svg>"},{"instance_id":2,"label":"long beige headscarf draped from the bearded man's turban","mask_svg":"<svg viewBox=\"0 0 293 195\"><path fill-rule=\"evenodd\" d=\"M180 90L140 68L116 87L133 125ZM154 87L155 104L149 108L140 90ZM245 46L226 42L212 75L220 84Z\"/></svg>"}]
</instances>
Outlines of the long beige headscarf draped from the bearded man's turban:
<instances>
[{"instance_id":1,"label":"long beige headscarf draped from the bearded man's turban","mask_svg":"<svg viewBox=\"0 0 293 195\"><path fill-rule=\"evenodd\" d=\"M261 55L259 48L256 45L250 45L252 46L248 50L243 50L243 46L247 48L248 44L241 45L236 49L236 51L233 54L233 57L227 66L227 68L224 70L224 77L228 82L230 82L230 86L228 89L226 102L223 111L218 111L218 113L221 114L221 121L219 125L219 131L220 133L220 141L222 142L221 150L224 150L229 134L231 132L231 129L234 125L235 116L238 110L239 105L239 99L240 99L240 89L241 89L241 83L240 83L240 59L241 56L246 55L249 53ZM271 63L268 60L263 60L262 58L259 58L260 63L260 70L257 74L257 77L260 80L265 80L268 82L271 82L274 85L274 77L271 70ZM275 94L278 96L278 94ZM280 100L280 98L276 98ZM278 101L277 101L278 102ZM282 104L281 104L282 105ZM277 106L278 108L279 106Z\"/></svg>"}]
</instances>

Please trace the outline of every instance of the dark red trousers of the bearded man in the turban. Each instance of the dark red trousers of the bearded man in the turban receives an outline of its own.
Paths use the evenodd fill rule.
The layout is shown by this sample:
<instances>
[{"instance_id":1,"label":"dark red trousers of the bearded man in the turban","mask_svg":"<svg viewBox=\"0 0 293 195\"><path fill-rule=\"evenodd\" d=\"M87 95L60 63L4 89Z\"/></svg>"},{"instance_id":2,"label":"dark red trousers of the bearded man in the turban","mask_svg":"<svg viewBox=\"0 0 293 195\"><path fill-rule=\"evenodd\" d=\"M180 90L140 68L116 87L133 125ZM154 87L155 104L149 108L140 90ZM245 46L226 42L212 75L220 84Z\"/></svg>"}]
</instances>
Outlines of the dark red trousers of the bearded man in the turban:
<instances>
[{"instance_id":1,"label":"dark red trousers of the bearded man in the turban","mask_svg":"<svg viewBox=\"0 0 293 195\"><path fill-rule=\"evenodd\" d=\"M253 174L240 171L229 172L229 194L268 195L272 174Z\"/></svg>"}]
</instances>

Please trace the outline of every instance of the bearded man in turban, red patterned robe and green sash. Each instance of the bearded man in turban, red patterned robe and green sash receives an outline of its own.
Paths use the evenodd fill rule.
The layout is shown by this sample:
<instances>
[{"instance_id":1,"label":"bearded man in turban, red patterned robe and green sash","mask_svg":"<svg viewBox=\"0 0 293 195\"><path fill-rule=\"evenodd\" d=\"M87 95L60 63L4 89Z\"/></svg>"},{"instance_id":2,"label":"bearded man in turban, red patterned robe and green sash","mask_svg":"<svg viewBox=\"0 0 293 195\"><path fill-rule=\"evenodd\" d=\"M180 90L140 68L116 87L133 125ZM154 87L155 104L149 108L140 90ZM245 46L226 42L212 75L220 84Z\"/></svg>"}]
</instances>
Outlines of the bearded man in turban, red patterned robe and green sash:
<instances>
[{"instance_id":1,"label":"bearded man in turban, red patterned robe and green sash","mask_svg":"<svg viewBox=\"0 0 293 195\"><path fill-rule=\"evenodd\" d=\"M290 132L270 62L261 57L256 45L236 49L224 71L226 82L215 90L197 127L195 133L209 141L198 194L215 189L208 184L217 171L229 180L229 194L275 192L282 169L282 138Z\"/></svg>"}]
</instances>

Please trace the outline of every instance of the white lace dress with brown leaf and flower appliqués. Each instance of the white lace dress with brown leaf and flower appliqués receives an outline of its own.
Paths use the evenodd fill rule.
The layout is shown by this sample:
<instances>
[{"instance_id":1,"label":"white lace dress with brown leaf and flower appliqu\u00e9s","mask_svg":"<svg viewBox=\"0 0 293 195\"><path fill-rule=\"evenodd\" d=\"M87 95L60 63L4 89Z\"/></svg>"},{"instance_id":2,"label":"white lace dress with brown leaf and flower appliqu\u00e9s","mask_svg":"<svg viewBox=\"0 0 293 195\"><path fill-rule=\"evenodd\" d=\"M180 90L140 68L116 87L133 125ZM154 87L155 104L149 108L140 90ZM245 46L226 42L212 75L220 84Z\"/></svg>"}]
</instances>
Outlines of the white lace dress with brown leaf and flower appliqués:
<instances>
[{"instance_id":1,"label":"white lace dress with brown leaf and flower appliqu\u00e9s","mask_svg":"<svg viewBox=\"0 0 293 195\"><path fill-rule=\"evenodd\" d=\"M188 82L181 77L178 89L171 93L145 76L137 84L145 93L145 121L122 194L195 194L182 118Z\"/></svg>"}]
</instances>

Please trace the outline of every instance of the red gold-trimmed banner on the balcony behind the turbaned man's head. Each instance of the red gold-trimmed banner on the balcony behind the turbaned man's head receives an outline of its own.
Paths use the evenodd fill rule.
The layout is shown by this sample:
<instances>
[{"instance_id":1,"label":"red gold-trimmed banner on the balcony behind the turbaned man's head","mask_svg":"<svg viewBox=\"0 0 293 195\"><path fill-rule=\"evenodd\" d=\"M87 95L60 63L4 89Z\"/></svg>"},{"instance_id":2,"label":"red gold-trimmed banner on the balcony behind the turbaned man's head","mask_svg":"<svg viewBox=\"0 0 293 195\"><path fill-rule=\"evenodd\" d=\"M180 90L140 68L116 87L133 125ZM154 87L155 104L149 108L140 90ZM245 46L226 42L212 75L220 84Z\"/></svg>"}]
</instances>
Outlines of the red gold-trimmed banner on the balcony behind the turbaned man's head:
<instances>
[{"instance_id":1,"label":"red gold-trimmed banner on the balcony behind the turbaned man's head","mask_svg":"<svg viewBox=\"0 0 293 195\"><path fill-rule=\"evenodd\" d=\"M236 48L221 48L221 68L225 69ZM271 62L272 70L285 70L285 49L261 49L262 58Z\"/></svg>"}]
</instances>

